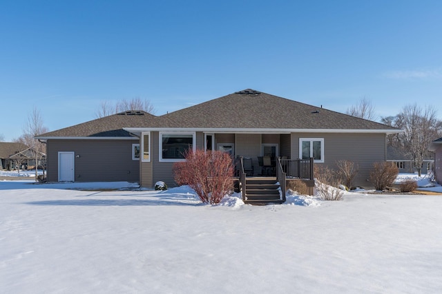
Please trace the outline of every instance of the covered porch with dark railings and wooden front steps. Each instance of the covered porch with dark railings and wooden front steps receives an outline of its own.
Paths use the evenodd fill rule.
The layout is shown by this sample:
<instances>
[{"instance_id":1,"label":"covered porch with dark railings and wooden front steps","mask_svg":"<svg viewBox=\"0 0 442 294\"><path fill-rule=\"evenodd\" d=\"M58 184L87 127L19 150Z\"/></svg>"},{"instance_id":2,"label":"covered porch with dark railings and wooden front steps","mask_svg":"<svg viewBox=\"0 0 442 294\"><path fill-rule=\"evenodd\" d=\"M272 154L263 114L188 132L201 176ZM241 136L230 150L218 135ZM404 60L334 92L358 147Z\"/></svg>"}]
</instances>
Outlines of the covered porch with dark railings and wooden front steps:
<instances>
[{"instance_id":1,"label":"covered porch with dark railings and wooden front steps","mask_svg":"<svg viewBox=\"0 0 442 294\"><path fill-rule=\"evenodd\" d=\"M314 158L298 158L299 147L292 143L290 133L204 133L204 148L232 157L236 190L246 203L285 202L291 181L304 182L313 195Z\"/></svg>"}]
</instances>

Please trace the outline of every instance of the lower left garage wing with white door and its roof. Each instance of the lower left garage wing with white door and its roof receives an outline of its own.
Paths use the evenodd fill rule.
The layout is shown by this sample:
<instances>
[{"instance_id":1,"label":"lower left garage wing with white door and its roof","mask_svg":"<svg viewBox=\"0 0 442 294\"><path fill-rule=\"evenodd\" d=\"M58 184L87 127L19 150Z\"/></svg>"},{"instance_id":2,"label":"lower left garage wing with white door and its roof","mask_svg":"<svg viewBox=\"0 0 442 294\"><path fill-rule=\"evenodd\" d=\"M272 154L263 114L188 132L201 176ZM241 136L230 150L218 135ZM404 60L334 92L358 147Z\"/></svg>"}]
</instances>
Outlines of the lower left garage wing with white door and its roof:
<instances>
[{"instance_id":1,"label":"lower left garage wing with white door and its roof","mask_svg":"<svg viewBox=\"0 0 442 294\"><path fill-rule=\"evenodd\" d=\"M46 141L48 182L139 182L140 139L122 127L153 118L121 112L38 136Z\"/></svg>"}]
</instances>

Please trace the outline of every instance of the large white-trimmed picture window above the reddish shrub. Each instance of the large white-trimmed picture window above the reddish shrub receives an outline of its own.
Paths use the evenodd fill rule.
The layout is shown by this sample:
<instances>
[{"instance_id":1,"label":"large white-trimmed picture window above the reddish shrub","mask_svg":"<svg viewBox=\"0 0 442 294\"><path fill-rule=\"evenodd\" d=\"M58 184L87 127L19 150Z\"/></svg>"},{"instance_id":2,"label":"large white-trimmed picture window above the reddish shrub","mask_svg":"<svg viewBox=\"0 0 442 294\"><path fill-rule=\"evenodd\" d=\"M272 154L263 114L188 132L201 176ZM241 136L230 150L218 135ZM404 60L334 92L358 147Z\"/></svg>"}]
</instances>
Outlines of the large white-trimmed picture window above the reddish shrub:
<instances>
[{"instance_id":1,"label":"large white-trimmed picture window above the reddish shrub","mask_svg":"<svg viewBox=\"0 0 442 294\"><path fill-rule=\"evenodd\" d=\"M186 151L195 151L195 133L160 132L160 161L182 161Z\"/></svg>"}]
</instances>

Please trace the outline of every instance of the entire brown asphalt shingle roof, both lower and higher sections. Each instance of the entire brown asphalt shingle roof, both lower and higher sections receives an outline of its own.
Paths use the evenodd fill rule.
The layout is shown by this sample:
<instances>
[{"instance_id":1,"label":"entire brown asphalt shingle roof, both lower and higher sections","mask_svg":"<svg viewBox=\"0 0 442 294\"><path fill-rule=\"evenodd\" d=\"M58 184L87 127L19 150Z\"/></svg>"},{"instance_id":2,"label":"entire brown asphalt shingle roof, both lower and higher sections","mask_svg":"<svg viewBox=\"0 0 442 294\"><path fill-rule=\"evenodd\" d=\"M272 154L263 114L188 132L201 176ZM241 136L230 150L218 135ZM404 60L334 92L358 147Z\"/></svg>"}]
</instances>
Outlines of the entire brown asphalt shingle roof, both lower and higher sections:
<instances>
[{"instance_id":1,"label":"entire brown asphalt shingle roof, both lower and higher sections","mask_svg":"<svg viewBox=\"0 0 442 294\"><path fill-rule=\"evenodd\" d=\"M130 137L131 134L123 129L125 127L398 130L371 120L247 89L162 116L122 112L39 137Z\"/></svg>"}]
</instances>

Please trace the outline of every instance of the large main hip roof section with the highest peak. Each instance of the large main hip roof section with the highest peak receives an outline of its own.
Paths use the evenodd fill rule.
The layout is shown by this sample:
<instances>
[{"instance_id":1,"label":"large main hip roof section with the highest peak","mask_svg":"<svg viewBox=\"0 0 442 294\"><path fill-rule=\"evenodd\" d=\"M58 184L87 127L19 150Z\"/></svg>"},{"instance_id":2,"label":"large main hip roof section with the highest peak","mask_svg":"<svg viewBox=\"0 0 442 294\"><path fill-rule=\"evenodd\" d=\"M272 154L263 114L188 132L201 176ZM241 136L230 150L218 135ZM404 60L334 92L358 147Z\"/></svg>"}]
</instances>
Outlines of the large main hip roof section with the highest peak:
<instances>
[{"instance_id":1,"label":"large main hip roof section with the highest peak","mask_svg":"<svg viewBox=\"0 0 442 294\"><path fill-rule=\"evenodd\" d=\"M159 116L153 129L286 129L291 130L377 130L399 129L371 120L340 114L256 90L243 90L192 107Z\"/></svg>"}]
</instances>

